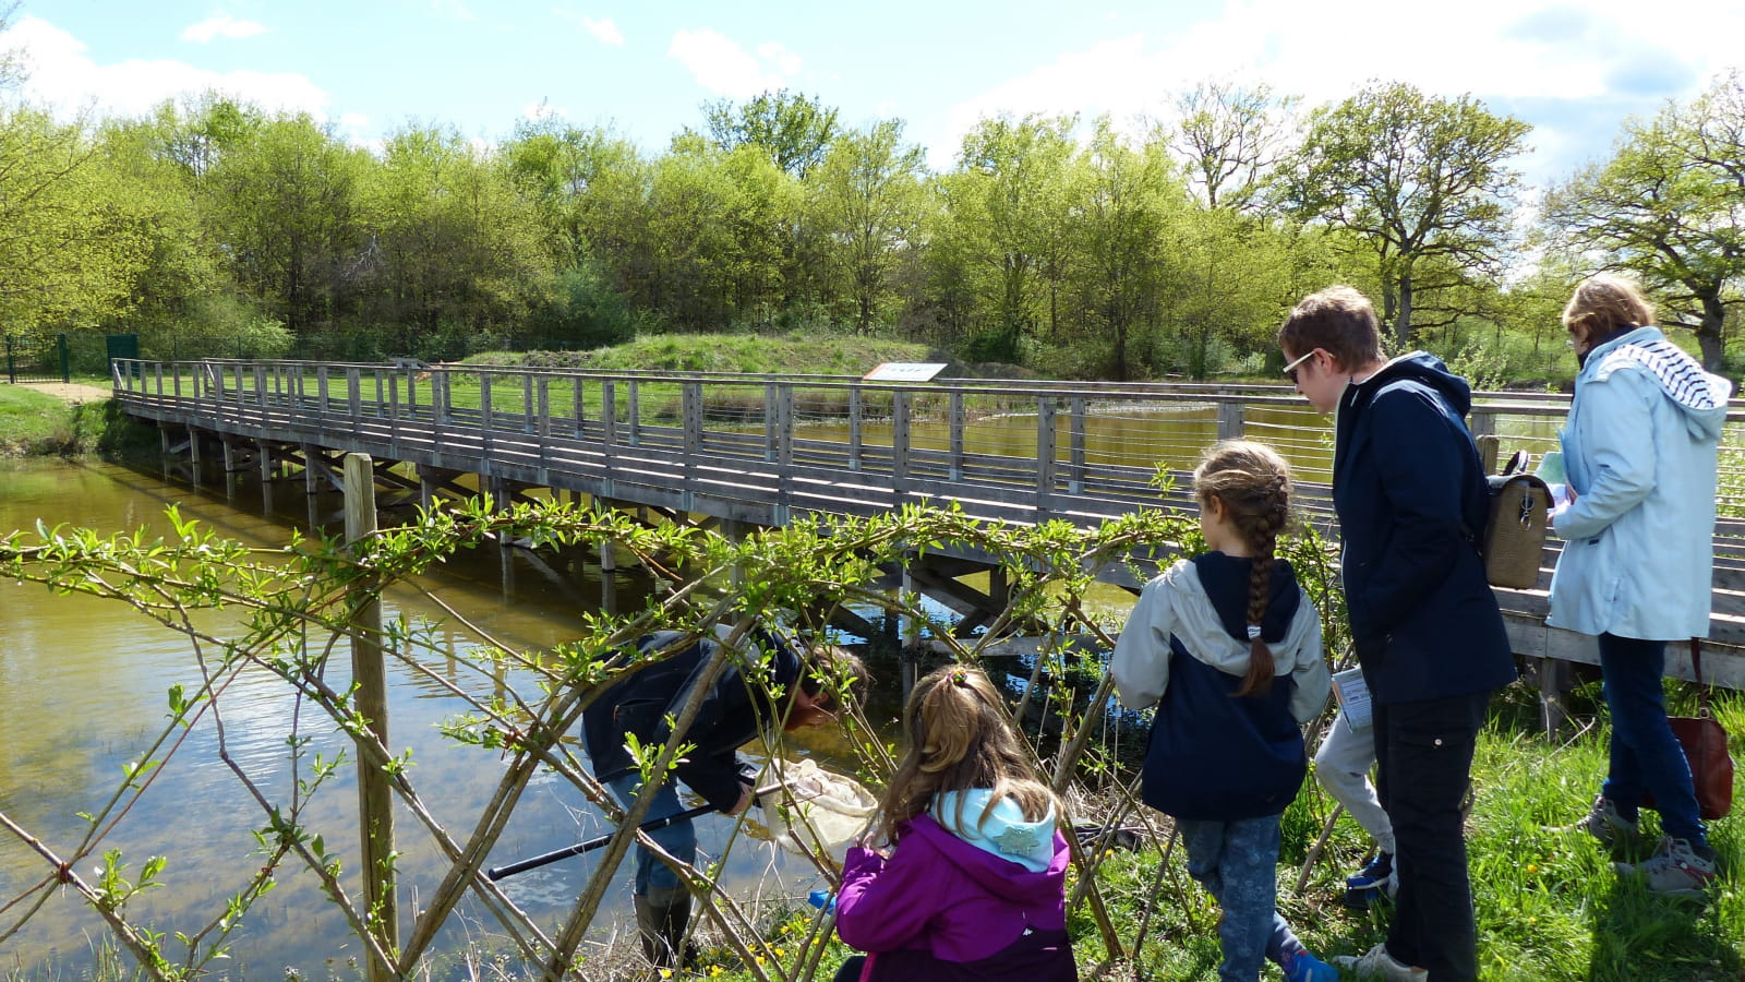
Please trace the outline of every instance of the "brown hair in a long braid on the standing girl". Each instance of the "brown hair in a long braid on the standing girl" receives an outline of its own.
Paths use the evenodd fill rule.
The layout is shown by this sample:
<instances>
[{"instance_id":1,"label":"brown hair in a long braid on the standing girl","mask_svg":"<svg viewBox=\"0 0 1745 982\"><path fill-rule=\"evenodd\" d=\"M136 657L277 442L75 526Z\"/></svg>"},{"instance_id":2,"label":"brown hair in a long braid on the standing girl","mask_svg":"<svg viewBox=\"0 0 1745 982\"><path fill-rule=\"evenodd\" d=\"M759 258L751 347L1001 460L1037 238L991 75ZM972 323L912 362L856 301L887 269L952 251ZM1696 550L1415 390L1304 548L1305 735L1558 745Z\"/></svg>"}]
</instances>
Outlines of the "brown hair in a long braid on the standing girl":
<instances>
[{"instance_id":1,"label":"brown hair in a long braid on the standing girl","mask_svg":"<svg viewBox=\"0 0 1745 982\"><path fill-rule=\"evenodd\" d=\"M1260 638L1260 619L1272 596L1272 561L1279 533L1291 515L1291 467L1265 444L1222 440L1213 444L1194 470L1194 494L1204 508L1213 498L1242 536L1251 554L1248 577L1248 674L1237 695L1272 688L1272 648Z\"/></svg>"}]
</instances>

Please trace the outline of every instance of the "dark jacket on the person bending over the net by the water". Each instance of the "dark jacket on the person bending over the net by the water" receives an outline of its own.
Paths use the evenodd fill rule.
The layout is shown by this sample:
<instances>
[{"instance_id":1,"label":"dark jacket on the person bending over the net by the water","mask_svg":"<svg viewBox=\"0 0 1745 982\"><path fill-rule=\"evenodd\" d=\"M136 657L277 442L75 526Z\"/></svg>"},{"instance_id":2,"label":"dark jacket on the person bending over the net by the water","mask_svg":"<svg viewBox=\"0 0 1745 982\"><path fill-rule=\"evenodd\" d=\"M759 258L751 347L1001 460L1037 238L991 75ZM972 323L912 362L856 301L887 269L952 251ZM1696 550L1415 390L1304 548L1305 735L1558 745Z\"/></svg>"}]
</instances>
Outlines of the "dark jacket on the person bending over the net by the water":
<instances>
[{"instance_id":1,"label":"dark jacket on the person bending over the net by the water","mask_svg":"<svg viewBox=\"0 0 1745 982\"><path fill-rule=\"evenodd\" d=\"M637 650L658 652L682 638L677 631L658 631L637 640ZM757 648L770 655L770 685L792 692L801 678L801 660L773 634L752 634ZM719 641L703 638L667 660L653 664L602 692L581 715L581 739L593 760L593 772L606 778L630 767L625 734L644 744L665 744L672 736L667 718L677 718L691 695L691 685ZM688 788L719 811L740 800L740 746L759 730L780 725L784 709L761 695L764 687L749 685L738 666L728 664L703 697L684 741L696 750L674 769Z\"/></svg>"}]
</instances>

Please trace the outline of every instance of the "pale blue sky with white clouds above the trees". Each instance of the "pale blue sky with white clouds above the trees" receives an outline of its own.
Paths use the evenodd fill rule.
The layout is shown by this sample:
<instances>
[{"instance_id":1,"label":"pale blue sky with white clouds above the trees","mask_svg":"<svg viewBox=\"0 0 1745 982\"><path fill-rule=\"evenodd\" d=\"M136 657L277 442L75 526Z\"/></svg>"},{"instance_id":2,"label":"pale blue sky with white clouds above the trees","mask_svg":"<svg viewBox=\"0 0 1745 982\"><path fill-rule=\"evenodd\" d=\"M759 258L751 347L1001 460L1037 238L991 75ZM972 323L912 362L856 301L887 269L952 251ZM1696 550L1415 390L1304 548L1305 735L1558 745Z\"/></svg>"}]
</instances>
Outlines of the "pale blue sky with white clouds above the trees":
<instances>
[{"instance_id":1,"label":"pale blue sky with white clouds above the trees","mask_svg":"<svg viewBox=\"0 0 1745 982\"><path fill-rule=\"evenodd\" d=\"M23 0L0 49L63 115L216 89L359 145L408 124L496 143L555 115L660 152L703 103L785 87L848 126L902 119L935 169L1000 114L1136 133L1202 80L1310 107L1401 80L1530 122L1516 166L1544 185L1745 65L1742 37L1736 0Z\"/></svg>"}]
</instances>

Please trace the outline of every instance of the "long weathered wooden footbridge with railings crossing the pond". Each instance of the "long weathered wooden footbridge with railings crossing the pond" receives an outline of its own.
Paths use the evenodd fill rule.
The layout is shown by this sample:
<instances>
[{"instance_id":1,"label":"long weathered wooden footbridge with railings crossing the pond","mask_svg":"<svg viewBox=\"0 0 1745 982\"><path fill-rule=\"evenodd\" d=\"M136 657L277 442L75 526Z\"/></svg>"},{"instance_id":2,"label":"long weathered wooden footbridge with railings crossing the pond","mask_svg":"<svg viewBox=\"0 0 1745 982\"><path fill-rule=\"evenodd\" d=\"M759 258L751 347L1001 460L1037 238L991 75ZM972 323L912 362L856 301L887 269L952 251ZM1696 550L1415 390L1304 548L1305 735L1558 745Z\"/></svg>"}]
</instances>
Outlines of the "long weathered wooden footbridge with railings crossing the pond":
<instances>
[{"instance_id":1,"label":"long weathered wooden footbridge with railings crossing the pond","mask_svg":"<svg viewBox=\"0 0 1745 982\"><path fill-rule=\"evenodd\" d=\"M1157 507L1159 467L1178 477L1174 503L1190 503L1183 489L1201 449L1246 435L1291 460L1312 521L1333 521L1331 419L1286 386L225 360L115 360L113 384L126 412L161 428L166 456L216 453L225 470L265 479L300 467L311 493L342 486L339 460L365 453L379 484L426 505L548 489L733 528L956 501L982 519L1087 526ZM1471 426L1487 451L1541 454L1567 411L1567 397L1480 393ZM1740 446L1742 423L1745 411L1729 412L1726 446ZM1722 458L1724 510L1745 514L1745 454ZM1544 681L1562 662L1597 660L1590 638L1544 626L1557 550L1550 542L1536 589L1497 591L1515 652L1541 659L1553 673ZM958 582L974 559L942 556L904 575L968 629L993 606ZM1719 522L1714 584L1705 674L1742 688L1745 521ZM1684 645L1668 660L1670 674L1689 678Z\"/></svg>"}]
</instances>

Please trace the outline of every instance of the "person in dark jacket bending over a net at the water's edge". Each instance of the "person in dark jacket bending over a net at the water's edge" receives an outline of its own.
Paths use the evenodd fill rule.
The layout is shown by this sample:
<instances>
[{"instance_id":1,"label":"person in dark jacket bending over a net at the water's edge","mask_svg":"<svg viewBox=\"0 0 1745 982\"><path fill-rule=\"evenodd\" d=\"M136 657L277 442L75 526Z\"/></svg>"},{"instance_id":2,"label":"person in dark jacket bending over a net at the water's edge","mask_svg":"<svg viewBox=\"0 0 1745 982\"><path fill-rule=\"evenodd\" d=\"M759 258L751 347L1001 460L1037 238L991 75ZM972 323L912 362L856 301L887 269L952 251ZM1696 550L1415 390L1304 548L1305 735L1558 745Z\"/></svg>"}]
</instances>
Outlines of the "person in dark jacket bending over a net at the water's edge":
<instances>
[{"instance_id":1,"label":"person in dark jacket bending over a net at the water's edge","mask_svg":"<svg viewBox=\"0 0 1745 982\"><path fill-rule=\"evenodd\" d=\"M658 631L637 641L642 654L656 654L682 645L684 633ZM866 688L866 667L852 652L834 645L790 645L773 631L747 636L752 652L763 652L768 666L763 680L747 680L738 664L729 662L703 697L684 741L695 744L674 767L674 776L722 814L740 814L752 804L756 767L738 757L738 748L759 732L818 727L838 718L845 701L857 701ZM663 746L675 720L691 699L691 690L715 654L719 640L703 638L672 657L637 671L602 692L581 715L583 744L593 771L612 795L630 807L642 786L625 748L635 736L642 746ZM759 673L763 674L763 673ZM829 687L846 683L848 692ZM778 695L771 695L778 694ZM644 821L684 811L672 781L661 783ZM682 863L696 861L696 830L691 821L675 821L649 832L663 849ZM691 893L654 853L635 849L635 912L642 952L658 968L682 968L684 931L691 923Z\"/></svg>"}]
</instances>

